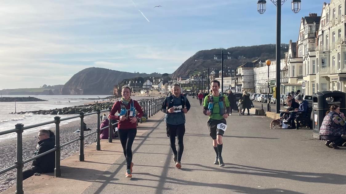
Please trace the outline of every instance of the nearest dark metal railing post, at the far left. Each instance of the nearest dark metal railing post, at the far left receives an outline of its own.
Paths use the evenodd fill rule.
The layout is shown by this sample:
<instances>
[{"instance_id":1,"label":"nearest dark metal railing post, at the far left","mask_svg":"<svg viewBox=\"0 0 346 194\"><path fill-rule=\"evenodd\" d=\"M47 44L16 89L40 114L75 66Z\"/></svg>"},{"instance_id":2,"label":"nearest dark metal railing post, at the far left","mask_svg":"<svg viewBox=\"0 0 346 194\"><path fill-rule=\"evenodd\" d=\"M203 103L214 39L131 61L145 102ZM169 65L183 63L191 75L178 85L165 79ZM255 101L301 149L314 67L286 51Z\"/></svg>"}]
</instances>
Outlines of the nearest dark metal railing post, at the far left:
<instances>
[{"instance_id":1,"label":"nearest dark metal railing post, at the far left","mask_svg":"<svg viewBox=\"0 0 346 194\"><path fill-rule=\"evenodd\" d=\"M17 133L17 185L16 194L24 194L23 191L23 144L22 133L24 131L23 124L16 124Z\"/></svg>"}]
</instances>

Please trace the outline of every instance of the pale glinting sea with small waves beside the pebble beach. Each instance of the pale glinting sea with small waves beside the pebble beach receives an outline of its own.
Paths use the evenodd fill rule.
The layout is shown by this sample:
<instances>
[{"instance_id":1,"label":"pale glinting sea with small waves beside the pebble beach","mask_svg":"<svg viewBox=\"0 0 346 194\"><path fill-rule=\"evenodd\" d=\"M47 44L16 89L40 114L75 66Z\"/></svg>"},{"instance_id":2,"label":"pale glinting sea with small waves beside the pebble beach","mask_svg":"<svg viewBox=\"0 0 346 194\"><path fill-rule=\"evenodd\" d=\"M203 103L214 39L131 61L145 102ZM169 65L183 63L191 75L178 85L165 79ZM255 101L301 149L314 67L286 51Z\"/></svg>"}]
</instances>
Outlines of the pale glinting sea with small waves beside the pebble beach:
<instances>
[{"instance_id":1,"label":"pale glinting sea with small waves beside the pebble beach","mask_svg":"<svg viewBox=\"0 0 346 194\"><path fill-rule=\"evenodd\" d=\"M94 101L102 101L98 98L105 98L110 95L2 95L2 97L35 97L48 101L36 101L36 102L0 102L0 131L14 129L18 123L24 124L24 126L34 125L38 123L48 122L54 120L57 115L36 115L32 113L26 113L23 115L10 114L20 111L34 111L34 110L49 110L55 108L64 108L76 105L83 105L85 103L93 103ZM97 99L91 99L97 98ZM70 101L70 102L69 102ZM61 102L58 103L58 102ZM71 117L74 115L59 115L61 118ZM66 120L60 123L60 126L68 124L79 118ZM48 129L55 126L55 124L49 124L42 127L36 127L32 129L24 130L23 135L39 129ZM7 135L1 135L1 139L16 137L16 133Z\"/></svg>"}]
</instances>

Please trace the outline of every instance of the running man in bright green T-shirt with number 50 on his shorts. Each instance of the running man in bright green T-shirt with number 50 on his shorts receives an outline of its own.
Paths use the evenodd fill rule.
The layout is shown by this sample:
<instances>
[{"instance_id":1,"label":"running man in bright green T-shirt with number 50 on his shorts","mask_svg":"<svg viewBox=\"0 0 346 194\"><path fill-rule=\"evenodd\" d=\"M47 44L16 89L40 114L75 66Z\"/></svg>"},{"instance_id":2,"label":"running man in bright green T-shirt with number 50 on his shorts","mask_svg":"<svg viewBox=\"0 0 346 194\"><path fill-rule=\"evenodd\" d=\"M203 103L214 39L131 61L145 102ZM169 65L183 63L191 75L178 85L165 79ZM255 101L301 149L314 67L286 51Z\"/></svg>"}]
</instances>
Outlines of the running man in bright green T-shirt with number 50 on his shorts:
<instances>
[{"instance_id":1,"label":"running man in bright green T-shirt with number 50 on his shorts","mask_svg":"<svg viewBox=\"0 0 346 194\"><path fill-rule=\"evenodd\" d=\"M220 82L211 81L212 93L204 98L203 114L209 116L208 128L213 139L213 147L216 153L214 164L225 166L222 160L222 136L227 129L226 118L230 113L229 101L226 95L219 93Z\"/></svg>"}]
</instances>

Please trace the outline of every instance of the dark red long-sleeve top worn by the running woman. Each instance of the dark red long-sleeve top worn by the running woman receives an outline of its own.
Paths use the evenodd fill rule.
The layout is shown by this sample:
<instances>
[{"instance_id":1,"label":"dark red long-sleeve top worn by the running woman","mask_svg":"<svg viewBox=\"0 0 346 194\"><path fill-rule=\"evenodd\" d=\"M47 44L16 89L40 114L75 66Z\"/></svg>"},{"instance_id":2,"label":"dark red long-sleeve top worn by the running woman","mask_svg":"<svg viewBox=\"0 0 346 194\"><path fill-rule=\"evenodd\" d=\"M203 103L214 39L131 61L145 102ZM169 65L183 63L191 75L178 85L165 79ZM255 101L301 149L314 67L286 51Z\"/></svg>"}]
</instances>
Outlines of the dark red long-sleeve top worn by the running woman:
<instances>
[{"instance_id":1,"label":"dark red long-sleeve top worn by the running woman","mask_svg":"<svg viewBox=\"0 0 346 194\"><path fill-rule=\"evenodd\" d=\"M140 107L140 105L138 104L138 102L136 100L134 101L134 107L137 110L137 117L140 118L143 116L143 110ZM114 103L110 113L109 113L109 117L110 119L116 119L118 120L118 129L136 129L137 128L137 123L130 123L130 119L132 118L132 116L127 117L127 119L125 119L124 121L120 121L120 116L115 116L115 113L118 112L120 113L121 111L121 102L120 101L116 101L116 103ZM130 100L129 104L126 106L126 109L130 109L132 104L132 99ZM130 114L130 110L127 111L126 115Z\"/></svg>"}]
</instances>

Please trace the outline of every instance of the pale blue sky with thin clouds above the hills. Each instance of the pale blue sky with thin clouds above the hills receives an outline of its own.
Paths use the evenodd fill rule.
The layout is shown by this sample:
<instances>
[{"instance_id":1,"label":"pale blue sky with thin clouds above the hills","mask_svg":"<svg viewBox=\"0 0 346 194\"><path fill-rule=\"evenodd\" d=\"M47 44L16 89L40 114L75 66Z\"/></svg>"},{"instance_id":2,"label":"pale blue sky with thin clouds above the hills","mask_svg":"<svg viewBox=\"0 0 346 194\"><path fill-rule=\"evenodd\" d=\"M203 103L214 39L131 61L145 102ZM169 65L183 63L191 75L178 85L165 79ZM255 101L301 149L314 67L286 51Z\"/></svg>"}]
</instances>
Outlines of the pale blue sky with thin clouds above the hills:
<instances>
[{"instance_id":1,"label":"pale blue sky with thin clouds above the hills","mask_svg":"<svg viewBox=\"0 0 346 194\"><path fill-rule=\"evenodd\" d=\"M286 1L281 42L297 41L300 19L323 2L302 0L294 14ZM267 0L261 15L256 3L1 0L0 90L65 84L89 67L172 73L199 50L275 43L276 7Z\"/></svg>"}]
</instances>

